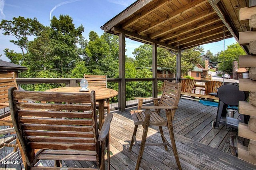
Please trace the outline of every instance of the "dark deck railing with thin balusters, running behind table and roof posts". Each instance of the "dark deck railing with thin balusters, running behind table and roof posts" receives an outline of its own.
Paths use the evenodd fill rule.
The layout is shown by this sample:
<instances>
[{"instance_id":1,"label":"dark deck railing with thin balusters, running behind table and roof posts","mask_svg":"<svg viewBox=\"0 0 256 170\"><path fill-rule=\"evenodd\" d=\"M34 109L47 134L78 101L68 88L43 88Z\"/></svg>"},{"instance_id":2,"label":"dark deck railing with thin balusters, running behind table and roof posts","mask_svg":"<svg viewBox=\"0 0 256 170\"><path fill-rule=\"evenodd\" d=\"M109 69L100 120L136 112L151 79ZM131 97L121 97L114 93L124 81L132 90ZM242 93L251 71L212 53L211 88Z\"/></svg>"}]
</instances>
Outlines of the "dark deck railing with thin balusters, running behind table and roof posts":
<instances>
[{"instance_id":1,"label":"dark deck railing with thin balusters, running behind table and roof posts","mask_svg":"<svg viewBox=\"0 0 256 170\"><path fill-rule=\"evenodd\" d=\"M163 81L167 79L168 81L176 81L174 78L158 78L158 95L162 93ZM24 87L24 90L32 91L45 91L47 89L52 89L56 87L72 87L78 86L81 79L76 78L16 78L16 81L20 87ZM108 78L107 86L108 88L120 91L120 81L118 78ZM204 80L195 80L196 90L194 93L199 94L200 89L204 89ZM126 79L126 107L131 107L137 105L138 101L134 97L152 97L153 87L152 78L145 79ZM120 109L120 96L115 97L110 101L112 104L111 109ZM150 101L148 101L150 102Z\"/></svg>"}]
</instances>

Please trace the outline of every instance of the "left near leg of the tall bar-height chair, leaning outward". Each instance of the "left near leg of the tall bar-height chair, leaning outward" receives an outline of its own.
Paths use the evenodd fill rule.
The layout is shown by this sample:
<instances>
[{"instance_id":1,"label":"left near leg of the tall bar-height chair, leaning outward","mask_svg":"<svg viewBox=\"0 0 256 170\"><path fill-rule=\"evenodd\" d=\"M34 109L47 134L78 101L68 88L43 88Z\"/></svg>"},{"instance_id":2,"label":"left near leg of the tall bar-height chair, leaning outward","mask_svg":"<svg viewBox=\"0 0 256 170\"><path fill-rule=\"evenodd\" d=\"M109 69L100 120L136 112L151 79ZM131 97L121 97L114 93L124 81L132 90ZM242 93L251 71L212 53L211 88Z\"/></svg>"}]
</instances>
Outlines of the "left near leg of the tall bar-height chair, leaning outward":
<instances>
[{"instance_id":1,"label":"left near leg of the tall bar-height chair, leaning outward","mask_svg":"<svg viewBox=\"0 0 256 170\"><path fill-rule=\"evenodd\" d=\"M138 160L137 160L135 170L138 170L140 168L140 162L142 160L142 155L144 152L146 138L147 138L147 134L148 134L149 120L150 120L150 110L146 109L146 115L145 115L145 120L144 120L144 125L143 125L142 140L141 140L141 144L140 144L140 152L138 154Z\"/></svg>"}]
</instances>

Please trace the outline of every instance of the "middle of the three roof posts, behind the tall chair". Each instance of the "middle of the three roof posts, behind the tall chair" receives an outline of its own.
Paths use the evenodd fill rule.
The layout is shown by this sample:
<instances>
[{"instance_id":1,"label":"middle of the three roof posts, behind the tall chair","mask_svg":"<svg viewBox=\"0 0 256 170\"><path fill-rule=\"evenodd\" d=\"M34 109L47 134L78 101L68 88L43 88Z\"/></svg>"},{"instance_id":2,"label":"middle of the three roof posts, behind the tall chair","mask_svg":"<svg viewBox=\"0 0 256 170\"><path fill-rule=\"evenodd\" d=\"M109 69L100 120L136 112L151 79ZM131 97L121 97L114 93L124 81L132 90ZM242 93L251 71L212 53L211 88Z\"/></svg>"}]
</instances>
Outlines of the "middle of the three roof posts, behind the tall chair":
<instances>
[{"instance_id":1,"label":"middle of the three roof posts, behind the tall chair","mask_svg":"<svg viewBox=\"0 0 256 170\"><path fill-rule=\"evenodd\" d=\"M152 46L153 97L157 97L157 44L153 43Z\"/></svg>"}]
</instances>

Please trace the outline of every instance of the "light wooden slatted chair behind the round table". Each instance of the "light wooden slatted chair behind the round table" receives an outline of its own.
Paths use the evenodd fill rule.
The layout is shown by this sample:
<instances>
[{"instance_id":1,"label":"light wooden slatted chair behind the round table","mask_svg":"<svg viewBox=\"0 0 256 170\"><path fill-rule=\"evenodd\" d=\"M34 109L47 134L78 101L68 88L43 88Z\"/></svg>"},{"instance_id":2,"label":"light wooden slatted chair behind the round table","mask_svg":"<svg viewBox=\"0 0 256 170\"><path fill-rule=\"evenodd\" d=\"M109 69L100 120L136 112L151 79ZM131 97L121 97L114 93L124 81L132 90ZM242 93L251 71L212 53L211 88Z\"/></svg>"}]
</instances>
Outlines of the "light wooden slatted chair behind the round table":
<instances>
[{"instance_id":1,"label":"light wooden slatted chair behind the round table","mask_svg":"<svg viewBox=\"0 0 256 170\"><path fill-rule=\"evenodd\" d=\"M86 75L84 74L84 78L88 81L89 86L97 86L107 88L107 75ZM90 87L88 87L90 89ZM98 104L96 103L96 107ZM105 100L104 109L107 109L107 113L110 112L109 107L109 99Z\"/></svg>"}]
</instances>

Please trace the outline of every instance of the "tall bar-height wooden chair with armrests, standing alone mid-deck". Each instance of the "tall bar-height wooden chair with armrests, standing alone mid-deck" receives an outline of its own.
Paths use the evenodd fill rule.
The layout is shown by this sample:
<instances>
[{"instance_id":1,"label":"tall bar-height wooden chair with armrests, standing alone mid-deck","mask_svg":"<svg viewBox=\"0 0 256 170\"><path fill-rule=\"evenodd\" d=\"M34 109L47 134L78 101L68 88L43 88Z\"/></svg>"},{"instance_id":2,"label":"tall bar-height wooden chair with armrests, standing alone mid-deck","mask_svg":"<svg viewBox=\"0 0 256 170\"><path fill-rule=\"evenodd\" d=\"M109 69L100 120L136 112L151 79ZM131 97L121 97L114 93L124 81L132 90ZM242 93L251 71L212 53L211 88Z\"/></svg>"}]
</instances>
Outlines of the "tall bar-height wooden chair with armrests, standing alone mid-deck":
<instances>
[{"instance_id":1,"label":"tall bar-height wooden chair with armrests, standing alone mid-deck","mask_svg":"<svg viewBox=\"0 0 256 170\"><path fill-rule=\"evenodd\" d=\"M156 106L142 106L142 109L146 109L146 111L143 111L143 110L130 111L135 127L134 127L134 132L132 134L132 140L131 140L129 150L132 150L133 143L135 143L136 148L138 150L138 160L135 168L136 170L140 168L140 162L142 160L142 155L143 155L145 145L149 145L149 146L164 145L165 150L167 150L167 145L168 145L170 148L172 148L174 152L174 156L175 156L178 168L181 169L180 160L178 157L178 152L177 152L176 144L174 140L173 128L172 128L172 120L174 119L175 111L178 108L178 103L180 100L180 92L181 92L181 83L172 83L165 80L163 94L160 97L160 101ZM165 109L167 120L164 120L162 117L160 117L159 115L160 109ZM139 144L136 140L136 132L138 129L138 125L142 125L143 127L141 144ZM159 127L163 142L146 143L148 126ZM164 137L162 127L168 127L172 145Z\"/></svg>"}]
</instances>

